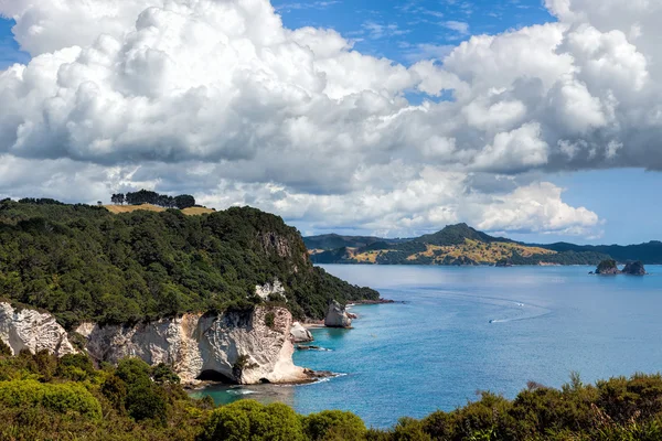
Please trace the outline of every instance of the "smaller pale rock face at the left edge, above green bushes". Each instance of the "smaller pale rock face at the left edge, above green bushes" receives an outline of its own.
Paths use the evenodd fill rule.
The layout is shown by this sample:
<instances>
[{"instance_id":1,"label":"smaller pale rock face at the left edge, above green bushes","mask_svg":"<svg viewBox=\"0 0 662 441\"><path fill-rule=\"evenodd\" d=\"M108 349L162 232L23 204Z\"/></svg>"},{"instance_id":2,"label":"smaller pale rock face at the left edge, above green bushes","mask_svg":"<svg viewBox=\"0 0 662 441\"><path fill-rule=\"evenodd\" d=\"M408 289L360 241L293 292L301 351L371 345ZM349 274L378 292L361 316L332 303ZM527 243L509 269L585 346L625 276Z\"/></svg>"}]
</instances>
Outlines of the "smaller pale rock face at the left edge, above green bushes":
<instances>
[{"instance_id":1,"label":"smaller pale rock face at the left edge, above green bushes","mask_svg":"<svg viewBox=\"0 0 662 441\"><path fill-rule=\"evenodd\" d=\"M45 349L61 357L76 352L53 315L33 310L19 311L9 303L0 303L0 340L13 354L22 349L33 354Z\"/></svg>"}]
</instances>

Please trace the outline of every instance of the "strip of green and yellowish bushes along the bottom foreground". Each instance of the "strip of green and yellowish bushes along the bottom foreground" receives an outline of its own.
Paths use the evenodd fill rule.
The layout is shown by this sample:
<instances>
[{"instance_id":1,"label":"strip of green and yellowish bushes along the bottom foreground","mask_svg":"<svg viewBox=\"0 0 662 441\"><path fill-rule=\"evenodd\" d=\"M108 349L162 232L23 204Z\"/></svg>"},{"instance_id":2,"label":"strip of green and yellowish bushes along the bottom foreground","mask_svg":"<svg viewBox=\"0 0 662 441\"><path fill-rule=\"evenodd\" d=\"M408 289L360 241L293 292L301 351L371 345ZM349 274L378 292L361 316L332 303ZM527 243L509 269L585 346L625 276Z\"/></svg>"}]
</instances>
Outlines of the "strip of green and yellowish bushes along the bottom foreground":
<instances>
[{"instance_id":1,"label":"strip of green and yellowish bushes along the bottom foreground","mask_svg":"<svg viewBox=\"0 0 662 441\"><path fill-rule=\"evenodd\" d=\"M0 343L0 440L149 441L653 441L662 439L662 377L636 375L562 389L530 384L514 400L479 401L386 430L351 412L299 416L285 405L194 400L168 366L86 355L9 355Z\"/></svg>"}]
</instances>

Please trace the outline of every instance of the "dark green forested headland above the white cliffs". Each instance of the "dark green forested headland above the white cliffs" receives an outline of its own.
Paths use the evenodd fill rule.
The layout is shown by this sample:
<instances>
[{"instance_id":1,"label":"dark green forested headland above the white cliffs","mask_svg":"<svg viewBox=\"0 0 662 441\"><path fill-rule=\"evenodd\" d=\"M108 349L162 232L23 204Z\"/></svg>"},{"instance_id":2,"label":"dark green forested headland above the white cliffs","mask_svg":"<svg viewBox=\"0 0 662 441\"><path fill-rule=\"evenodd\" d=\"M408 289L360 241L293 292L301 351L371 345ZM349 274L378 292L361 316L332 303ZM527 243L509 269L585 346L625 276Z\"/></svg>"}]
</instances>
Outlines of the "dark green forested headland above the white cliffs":
<instances>
[{"instance_id":1,"label":"dark green forested headland above the white cliffs","mask_svg":"<svg viewBox=\"0 0 662 441\"><path fill-rule=\"evenodd\" d=\"M49 201L0 202L0 297L81 321L128 323L249 308L278 279L292 313L321 319L330 299L377 299L314 268L299 232L254 208L186 216L111 214Z\"/></svg>"}]
</instances>

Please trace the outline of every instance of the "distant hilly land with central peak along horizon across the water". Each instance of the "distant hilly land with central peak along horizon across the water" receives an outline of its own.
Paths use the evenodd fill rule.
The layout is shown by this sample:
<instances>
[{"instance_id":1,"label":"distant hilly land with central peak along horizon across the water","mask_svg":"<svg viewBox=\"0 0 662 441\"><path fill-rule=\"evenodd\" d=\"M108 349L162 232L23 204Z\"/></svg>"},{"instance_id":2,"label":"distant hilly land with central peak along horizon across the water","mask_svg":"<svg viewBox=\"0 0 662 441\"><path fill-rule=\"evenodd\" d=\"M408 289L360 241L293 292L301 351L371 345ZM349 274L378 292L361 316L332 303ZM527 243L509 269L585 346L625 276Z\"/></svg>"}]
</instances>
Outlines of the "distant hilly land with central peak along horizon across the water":
<instances>
[{"instance_id":1,"label":"distant hilly land with central peak along horizon across the water","mask_svg":"<svg viewBox=\"0 0 662 441\"><path fill-rule=\"evenodd\" d=\"M598 265L605 260L662 263L662 243L641 245L525 244L490 236L467 224L449 225L440 232L415 238L340 236L305 237L314 263L365 265Z\"/></svg>"}]
</instances>

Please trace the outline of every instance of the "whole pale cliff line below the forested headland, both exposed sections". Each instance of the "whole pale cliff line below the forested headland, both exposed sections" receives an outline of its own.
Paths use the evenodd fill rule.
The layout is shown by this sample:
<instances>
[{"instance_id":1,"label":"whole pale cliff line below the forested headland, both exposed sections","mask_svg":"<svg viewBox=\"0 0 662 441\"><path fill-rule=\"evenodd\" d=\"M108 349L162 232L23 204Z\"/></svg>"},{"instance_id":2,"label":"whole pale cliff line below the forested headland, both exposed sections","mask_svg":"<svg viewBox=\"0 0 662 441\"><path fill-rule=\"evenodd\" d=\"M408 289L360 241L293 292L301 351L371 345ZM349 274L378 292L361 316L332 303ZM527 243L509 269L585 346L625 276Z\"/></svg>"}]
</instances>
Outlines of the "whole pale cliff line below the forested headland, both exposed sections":
<instances>
[{"instance_id":1,"label":"whole pale cliff line below the forested headland, both exposed sections","mask_svg":"<svg viewBox=\"0 0 662 441\"><path fill-rule=\"evenodd\" d=\"M310 372L292 363L292 315L284 308L256 308L221 314L184 314L137 325L84 323L84 349L97 362L139 357L164 363L185 384L200 379L231 384L301 383ZM17 311L0 303L0 340L18 354L47 351L63 356L76 349L53 315Z\"/></svg>"}]
</instances>

